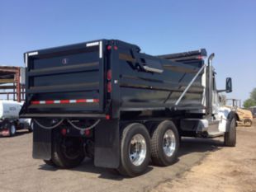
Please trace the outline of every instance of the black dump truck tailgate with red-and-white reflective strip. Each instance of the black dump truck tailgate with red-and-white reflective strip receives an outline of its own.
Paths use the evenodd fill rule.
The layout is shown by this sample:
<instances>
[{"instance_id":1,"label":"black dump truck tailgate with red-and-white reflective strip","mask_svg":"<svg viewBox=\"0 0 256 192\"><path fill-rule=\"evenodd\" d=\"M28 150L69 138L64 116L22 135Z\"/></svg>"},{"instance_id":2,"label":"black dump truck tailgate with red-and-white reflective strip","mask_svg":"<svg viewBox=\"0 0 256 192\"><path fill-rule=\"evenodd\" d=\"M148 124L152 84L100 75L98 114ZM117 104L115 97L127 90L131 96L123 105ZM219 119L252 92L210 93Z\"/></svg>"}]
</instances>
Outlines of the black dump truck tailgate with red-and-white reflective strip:
<instances>
[{"instance_id":1,"label":"black dump truck tailgate with red-and-white reflective strip","mask_svg":"<svg viewBox=\"0 0 256 192\"><path fill-rule=\"evenodd\" d=\"M21 116L102 113L102 41L26 54L26 105Z\"/></svg>"}]
</instances>

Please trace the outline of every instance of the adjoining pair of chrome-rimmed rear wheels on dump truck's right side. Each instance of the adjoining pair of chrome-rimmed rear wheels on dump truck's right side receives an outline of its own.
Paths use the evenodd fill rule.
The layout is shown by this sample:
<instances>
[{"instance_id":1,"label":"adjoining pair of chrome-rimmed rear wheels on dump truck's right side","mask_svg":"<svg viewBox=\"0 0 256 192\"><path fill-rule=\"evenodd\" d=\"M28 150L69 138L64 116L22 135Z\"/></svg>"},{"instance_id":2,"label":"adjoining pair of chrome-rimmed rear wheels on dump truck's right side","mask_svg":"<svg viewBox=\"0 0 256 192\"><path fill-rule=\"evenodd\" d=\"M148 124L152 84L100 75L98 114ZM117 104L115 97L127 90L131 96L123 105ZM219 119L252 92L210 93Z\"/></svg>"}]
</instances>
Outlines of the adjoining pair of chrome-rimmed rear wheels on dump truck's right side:
<instances>
[{"instance_id":1,"label":"adjoining pair of chrome-rimmed rear wheels on dump truck's right side","mask_svg":"<svg viewBox=\"0 0 256 192\"><path fill-rule=\"evenodd\" d=\"M125 176L139 176L149 166L150 157L158 166L169 166L177 159L178 130L165 120L149 136L143 124L128 124L121 136L121 163L118 171Z\"/></svg>"}]
</instances>

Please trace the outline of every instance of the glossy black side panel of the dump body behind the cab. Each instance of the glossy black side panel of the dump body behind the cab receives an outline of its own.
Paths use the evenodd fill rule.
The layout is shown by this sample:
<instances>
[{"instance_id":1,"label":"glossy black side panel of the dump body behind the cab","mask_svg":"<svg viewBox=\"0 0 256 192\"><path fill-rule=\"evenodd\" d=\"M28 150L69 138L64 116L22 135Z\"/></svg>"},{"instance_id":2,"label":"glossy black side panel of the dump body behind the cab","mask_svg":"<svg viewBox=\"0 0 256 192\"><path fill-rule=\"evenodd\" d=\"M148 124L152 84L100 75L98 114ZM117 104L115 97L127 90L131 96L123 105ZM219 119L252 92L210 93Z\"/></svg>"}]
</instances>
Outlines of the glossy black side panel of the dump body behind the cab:
<instances>
[{"instance_id":1,"label":"glossy black side panel of the dump body behind the cab","mask_svg":"<svg viewBox=\"0 0 256 192\"><path fill-rule=\"evenodd\" d=\"M135 53L129 46L118 47L120 66L121 110L163 110L180 108L182 110L201 109L201 75L187 91L178 106L175 102L183 93L188 83L203 65L197 63L178 63L159 59L148 54ZM157 73L147 72L144 66L157 68ZM162 73L159 73L160 71Z\"/></svg>"}]
</instances>

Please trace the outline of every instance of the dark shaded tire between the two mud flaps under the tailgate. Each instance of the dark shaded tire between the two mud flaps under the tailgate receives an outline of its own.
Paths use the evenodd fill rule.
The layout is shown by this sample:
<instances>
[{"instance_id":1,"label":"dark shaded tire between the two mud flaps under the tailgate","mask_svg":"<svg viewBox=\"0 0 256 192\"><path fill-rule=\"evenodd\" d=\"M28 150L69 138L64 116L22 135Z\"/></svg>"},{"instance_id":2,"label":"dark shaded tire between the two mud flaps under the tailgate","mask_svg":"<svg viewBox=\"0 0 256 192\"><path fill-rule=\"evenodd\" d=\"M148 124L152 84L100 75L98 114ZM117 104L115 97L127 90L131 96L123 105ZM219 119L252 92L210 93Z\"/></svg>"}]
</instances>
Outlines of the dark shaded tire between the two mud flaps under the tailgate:
<instances>
[{"instance_id":1,"label":"dark shaded tire between the two mud flaps under the tailgate","mask_svg":"<svg viewBox=\"0 0 256 192\"><path fill-rule=\"evenodd\" d=\"M54 133L51 161L61 168L79 166L84 159L83 142L79 138Z\"/></svg>"}]
</instances>

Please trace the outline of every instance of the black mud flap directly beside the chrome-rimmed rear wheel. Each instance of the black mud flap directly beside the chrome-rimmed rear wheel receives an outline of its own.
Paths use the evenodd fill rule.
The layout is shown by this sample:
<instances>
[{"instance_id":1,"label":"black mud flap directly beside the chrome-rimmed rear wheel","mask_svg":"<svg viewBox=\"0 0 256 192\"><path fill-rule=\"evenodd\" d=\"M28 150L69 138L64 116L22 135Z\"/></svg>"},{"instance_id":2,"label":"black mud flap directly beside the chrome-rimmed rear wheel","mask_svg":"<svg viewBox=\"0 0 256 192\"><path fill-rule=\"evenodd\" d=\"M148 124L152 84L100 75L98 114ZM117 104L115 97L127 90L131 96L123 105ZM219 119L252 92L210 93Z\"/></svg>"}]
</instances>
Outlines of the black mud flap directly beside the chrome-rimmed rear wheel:
<instances>
[{"instance_id":1,"label":"black mud flap directly beside the chrome-rimmed rear wheel","mask_svg":"<svg viewBox=\"0 0 256 192\"><path fill-rule=\"evenodd\" d=\"M119 163L119 120L102 120L95 128L94 165L106 168L117 168Z\"/></svg>"}]
</instances>

